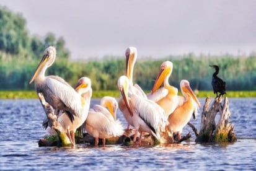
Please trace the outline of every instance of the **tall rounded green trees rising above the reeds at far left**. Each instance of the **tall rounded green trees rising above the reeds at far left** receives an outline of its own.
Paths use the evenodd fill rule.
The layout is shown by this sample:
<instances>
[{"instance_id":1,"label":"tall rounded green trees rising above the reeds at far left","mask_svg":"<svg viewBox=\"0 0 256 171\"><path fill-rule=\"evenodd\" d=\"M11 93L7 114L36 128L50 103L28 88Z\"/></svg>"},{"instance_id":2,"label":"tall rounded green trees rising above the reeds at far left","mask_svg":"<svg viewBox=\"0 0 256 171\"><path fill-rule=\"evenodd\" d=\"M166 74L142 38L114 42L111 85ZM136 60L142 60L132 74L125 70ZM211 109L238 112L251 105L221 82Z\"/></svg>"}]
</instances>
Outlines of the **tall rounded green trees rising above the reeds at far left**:
<instances>
[{"instance_id":1,"label":"tall rounded green trees rising above the reeds at far left","mask_svg":"<svg viewBox=\"0 0 256 171\"><path fill-rule=\"evenodd\" d=\"M49 45L55 46L59 58L69 58L62 37L56 38L53 33L47 33L44 38L30 35L26 20L21 14L11 12L7 7L0 6L0 51L26 59L40 58L42 51ZM15 56L16 57L16 56Z\"/></svg>"}]
</instances>

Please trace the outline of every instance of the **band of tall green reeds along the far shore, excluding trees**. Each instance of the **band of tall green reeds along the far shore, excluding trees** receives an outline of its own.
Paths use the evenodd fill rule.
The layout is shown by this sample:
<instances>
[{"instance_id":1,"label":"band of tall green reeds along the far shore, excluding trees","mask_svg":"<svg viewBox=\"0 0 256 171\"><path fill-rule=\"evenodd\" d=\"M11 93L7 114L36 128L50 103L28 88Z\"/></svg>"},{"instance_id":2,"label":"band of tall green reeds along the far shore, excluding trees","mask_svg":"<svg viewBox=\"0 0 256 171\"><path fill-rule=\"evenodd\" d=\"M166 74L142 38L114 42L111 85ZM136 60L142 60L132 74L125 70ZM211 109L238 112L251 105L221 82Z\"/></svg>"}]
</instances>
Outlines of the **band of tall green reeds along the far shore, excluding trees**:
<instances>
[{"instance_id":1,"label":"band of tall green reeds along the far shore, excluding trees","mask_svg":"<svg viewBox=\"0 0 256 171\"><path fill-rule=\"evenodd\" d=\"M1 56L1 53L0 53ZM22 58L21 58L22 59ZM256 90L256 55L247 58L168 58L155 61L138 61L135 64L134 82L143 90L151 90L163 61L170 60L174 63L171 85L179 87L181 79L190 81L192 89L212 90L211 77L213 69L209 64L219 64L221 67L219 77L227 84L227 91L231 90ZM221 60L221 62L218 62ZM203 61L203 64L202 64ZM0 89L1 90L32 90L29 84L35 68L40 60L26 59L2 60L0 63ZM247 63L246 66L244 63ZM223 67L225 66L225 67ZM82 76L87 76L92 81L92 89L117 90L117 80L125 74L125 59L104 59L102 61L64 61L57 59L55 64L47 71L48 75L63 77L69 84L75 85Z\"/></svg>"}]
</instances>

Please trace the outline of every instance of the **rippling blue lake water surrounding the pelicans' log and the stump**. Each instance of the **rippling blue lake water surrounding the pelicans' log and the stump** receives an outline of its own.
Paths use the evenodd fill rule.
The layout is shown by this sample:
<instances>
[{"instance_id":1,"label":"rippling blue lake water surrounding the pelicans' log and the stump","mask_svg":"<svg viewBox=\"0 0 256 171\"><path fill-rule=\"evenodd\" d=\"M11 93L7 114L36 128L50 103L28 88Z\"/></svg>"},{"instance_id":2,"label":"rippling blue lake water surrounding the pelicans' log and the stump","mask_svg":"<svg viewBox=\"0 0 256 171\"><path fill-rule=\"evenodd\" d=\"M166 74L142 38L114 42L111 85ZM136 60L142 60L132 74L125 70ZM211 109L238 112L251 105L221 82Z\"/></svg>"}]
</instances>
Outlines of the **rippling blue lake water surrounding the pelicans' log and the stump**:
<instances>
[{"instance_id":1,"label":"rippling blue lake water surrounding the pelicans' log and the stump","mask_svg":"<svg viewBox=\"0 0 256 171\"><path fill-rule=\"evenodd\" d=\"M213 99L212 99L213 100ZM205 99L200 99L201 104ZM91 105L99 103L92 99ZM199 130L201 110L193 125ZM256 170L256 99L229 99L236 143L38 147L45 135L39 100L0 100L0 170ZM117 118L126 128L118 110Z\"/></svg>"}]
</instances>

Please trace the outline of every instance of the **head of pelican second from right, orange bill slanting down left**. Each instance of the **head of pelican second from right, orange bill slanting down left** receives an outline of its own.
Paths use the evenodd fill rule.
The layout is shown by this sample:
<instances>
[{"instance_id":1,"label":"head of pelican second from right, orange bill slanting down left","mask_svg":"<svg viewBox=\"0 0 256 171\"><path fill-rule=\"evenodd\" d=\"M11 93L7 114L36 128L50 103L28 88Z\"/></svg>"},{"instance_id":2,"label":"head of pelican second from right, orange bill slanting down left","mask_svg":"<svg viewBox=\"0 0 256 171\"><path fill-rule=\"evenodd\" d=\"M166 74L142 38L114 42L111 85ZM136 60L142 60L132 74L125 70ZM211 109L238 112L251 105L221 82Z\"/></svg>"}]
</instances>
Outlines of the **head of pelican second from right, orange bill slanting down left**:
<instances>
[{"instance_id":1,"label":"head of pelican second from right, orange bill slanting down left","mask_svg":"<svg viewBox=\"0 0 256 171\"><path fill-rule=\"evenodd\" d=\"M152 93L159 89L165 79L168 82L170 74L172 74L172 66L173 64L171 61L165 61L161 64L159 74L152 89Z\"/></svg>"}]
</instances>

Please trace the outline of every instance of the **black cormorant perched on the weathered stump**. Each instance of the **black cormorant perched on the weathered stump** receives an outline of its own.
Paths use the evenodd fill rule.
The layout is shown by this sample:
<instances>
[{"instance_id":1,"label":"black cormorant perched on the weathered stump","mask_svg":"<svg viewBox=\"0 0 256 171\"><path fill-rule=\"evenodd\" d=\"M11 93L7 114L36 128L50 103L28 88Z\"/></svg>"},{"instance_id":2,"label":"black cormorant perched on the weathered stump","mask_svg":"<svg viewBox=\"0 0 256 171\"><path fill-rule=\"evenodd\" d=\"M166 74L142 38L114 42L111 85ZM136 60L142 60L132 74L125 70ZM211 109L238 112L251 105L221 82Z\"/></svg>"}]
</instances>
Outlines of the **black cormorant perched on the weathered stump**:
<instances>
[{"instance_id":1,"label":"black cormorant perched on the weathered stump","mask_svg":"<svg viewBox=\"0 0 256 171\"><path fill-rule=\"evenodd\" d=\"M220 93L219 95L226 94L226 82L217 76L219 73L219 67L217 65L210 66L215 69L215 72L213 73L213 79L211 79L211 85L213 85L214 94L216 94L216 97L218 97L218 92Z\"/></svg>"}]
</instances>

